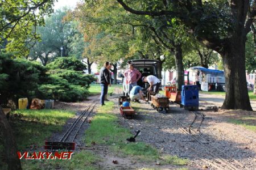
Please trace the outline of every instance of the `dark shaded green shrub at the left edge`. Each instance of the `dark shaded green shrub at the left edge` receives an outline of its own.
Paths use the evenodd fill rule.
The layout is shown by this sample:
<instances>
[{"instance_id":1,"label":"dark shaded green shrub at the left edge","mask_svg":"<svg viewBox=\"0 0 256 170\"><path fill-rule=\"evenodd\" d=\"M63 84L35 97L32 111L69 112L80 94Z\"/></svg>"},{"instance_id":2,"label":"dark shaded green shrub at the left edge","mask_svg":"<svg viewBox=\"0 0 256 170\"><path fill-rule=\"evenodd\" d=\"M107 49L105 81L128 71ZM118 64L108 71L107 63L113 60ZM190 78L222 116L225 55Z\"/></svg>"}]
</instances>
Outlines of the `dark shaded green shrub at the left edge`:
<instances>
[{"instance_id":1,"label":"dark shaded green shrub at the left edge","mask_svg":"<svg viewBox=\"0 0 256 170\"><path fill-rule=\"evenodd\" d=\"M9 59L0 55L0 74L5 78L1 82L0 100L5 104L8 99L35 97L35 90L46 78L46 68L39 63L26 59Z\"/></svg>"}]
</instances>

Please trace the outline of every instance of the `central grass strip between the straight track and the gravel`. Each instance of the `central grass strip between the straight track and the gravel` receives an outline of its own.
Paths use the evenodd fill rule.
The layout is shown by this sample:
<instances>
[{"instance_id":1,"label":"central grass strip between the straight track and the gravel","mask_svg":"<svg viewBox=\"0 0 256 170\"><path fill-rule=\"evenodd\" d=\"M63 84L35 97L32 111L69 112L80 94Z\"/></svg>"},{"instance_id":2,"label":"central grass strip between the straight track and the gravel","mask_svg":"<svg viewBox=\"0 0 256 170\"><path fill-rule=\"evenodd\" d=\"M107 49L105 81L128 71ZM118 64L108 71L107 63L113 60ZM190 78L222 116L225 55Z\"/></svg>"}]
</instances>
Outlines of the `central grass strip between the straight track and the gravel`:
<instances>
[{"instance_id":1,"label":"central grass strip between the straight track and the gravel","mask_svg":"<svg viewBox=\"0 0 256 170\"><path fill-rule=\"evenodd\" d=\"M126 128L118 124L118 118L112 114L113 102L107 102L105 106L100 107L94 116L90 128L86 130L85 143L91 146L109 145L113 151L119 154L135 156L146 162L156 162L161 160L163 164L185 165L187 159L180 159L177 156L162 156L156 148L147 145L144 142L128 143L126 138L133 136Z\"/></svg>"}]
</instances>

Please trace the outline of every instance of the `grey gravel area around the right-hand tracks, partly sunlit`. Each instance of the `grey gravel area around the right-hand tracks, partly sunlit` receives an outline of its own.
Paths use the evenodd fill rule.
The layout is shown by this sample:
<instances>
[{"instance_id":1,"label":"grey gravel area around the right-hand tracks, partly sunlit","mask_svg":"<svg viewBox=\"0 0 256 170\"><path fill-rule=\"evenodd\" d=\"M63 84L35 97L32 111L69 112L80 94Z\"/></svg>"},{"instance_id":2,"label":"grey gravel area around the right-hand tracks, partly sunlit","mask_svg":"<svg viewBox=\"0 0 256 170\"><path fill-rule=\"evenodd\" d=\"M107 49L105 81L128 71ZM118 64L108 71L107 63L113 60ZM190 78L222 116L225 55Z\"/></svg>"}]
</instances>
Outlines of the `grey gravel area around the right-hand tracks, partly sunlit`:
<instances>
[{"instance_id":1,"label":"grey gravel area around the right-hand tracks, partly sunlit","mask_svg":"<svg viewBox=\"0 0 256 170\"><path fill-rule=\"evenodd\" d=\"M146 103L133 104L137 109L134 120L120 118L123 125L142 130L139 141L150 143L166 154L188 158L189 165L209 169L255 169L256 134L241 126L226 122L221 112L205 114L200 132L201 117L171 105L171 113L156 112ZM252 114L255 114L252 112Z\"/></svg>"}]
</instances>

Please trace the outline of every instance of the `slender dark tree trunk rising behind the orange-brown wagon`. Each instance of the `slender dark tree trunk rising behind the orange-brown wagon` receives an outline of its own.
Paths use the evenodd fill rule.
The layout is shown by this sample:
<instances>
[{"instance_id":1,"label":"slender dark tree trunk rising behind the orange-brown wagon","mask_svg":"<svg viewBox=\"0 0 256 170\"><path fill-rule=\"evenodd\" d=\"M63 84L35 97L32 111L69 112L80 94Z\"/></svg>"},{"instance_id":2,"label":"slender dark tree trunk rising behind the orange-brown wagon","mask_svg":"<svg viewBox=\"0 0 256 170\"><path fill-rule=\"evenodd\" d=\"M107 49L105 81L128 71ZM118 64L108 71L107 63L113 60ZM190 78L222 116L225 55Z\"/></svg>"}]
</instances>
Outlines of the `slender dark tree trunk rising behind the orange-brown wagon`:
<instances>
[{"instance_id":1,"label":"slender dark tree trunk rising behind the orange-brown wagon","mask_svg":"<svg viewBox=\"0 0 256 170\"><path fill-rule=\"evenodd\" d=\"M181 86L184 85L184 67L181 45L176 45L174 50L175 65L176 65L176 86L177 90L181 91Z\"/></svg>"}]
</instances>

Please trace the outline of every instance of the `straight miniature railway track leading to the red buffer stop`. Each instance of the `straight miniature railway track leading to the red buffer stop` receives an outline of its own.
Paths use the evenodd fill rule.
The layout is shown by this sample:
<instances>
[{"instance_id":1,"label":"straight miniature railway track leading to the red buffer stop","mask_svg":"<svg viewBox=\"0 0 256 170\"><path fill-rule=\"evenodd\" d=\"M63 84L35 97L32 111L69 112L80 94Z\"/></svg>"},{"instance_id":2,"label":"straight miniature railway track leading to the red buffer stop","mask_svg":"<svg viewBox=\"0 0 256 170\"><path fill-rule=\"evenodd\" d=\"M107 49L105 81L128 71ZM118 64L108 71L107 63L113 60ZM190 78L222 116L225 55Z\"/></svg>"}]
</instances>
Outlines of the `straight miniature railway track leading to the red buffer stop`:
<instances>
[{"instance_id":1,"label":"straight miniature railway track leading to the red buffer stop","mask_svg":"<svg viewBox=\"0 0 256 170\"><path fill-rule=\"evenodd\" d=\"M60 142L73 142L76 139L79 130L81 129L84 122L89 117L90 113L92 113L96 103L92 101L92 104L88 105L88 107L76 118L76 120L72 123L72 125L65 132L63 137L61 137Z\"/></svg>"}]
</instances>

